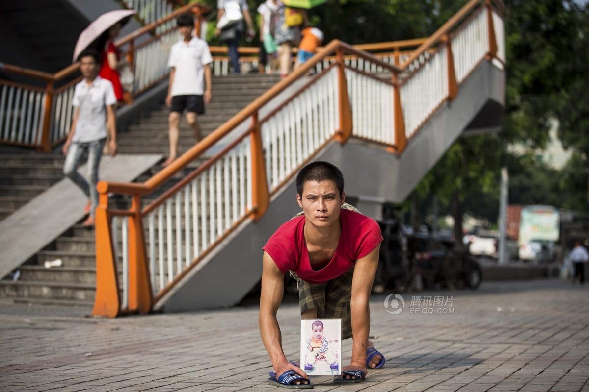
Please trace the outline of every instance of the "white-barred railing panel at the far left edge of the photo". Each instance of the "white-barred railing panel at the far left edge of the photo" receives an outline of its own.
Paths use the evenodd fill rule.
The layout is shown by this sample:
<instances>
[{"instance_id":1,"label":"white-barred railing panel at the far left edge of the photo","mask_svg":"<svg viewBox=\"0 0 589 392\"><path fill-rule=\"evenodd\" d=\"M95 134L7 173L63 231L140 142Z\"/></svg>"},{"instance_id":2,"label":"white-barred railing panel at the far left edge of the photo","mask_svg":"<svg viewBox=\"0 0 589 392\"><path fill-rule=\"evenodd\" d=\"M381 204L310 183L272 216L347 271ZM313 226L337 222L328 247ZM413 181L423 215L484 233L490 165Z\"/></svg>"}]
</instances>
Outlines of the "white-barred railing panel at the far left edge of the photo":
<instances>
[{"instance_id":1,"label":"white-barred railing panel at the far left edge of the photo","mask_svg":"<svg viewBox=\"0 0 589 392\"><path fill-rule=\"evenodd\" d=\"M0 140L40 144L45 89L0 80Z\"/></svg>"}]
</instances>

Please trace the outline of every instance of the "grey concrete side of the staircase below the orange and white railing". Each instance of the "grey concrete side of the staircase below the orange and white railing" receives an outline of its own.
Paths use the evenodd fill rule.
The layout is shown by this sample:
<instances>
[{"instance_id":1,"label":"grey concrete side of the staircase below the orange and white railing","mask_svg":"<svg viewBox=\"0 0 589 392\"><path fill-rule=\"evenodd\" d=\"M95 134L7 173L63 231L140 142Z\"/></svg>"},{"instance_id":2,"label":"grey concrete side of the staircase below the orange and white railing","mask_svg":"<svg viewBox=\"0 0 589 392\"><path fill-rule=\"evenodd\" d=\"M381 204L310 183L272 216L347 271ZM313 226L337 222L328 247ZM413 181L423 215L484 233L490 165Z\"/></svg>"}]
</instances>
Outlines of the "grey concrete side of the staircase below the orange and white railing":
<instances>
[{"instance_id":1,"label":"grey concrete side of the staircase below the orange and white railing","mask_svg":"<svg viewBox=\"0 0 589 392\"><path fill-rule=\"evenodd\" d=\"M402 202L472 124L477 129L497 127L497 109L504 105L504 78L504 71L483 62L462 83L455 100L436 110L401 155L352 139L343 146L329 143L314 159L327 160L342 169L349 196ZM277 227L299 212L295 195L292 179L273 197L260 222L244 222L168 292L156 309L207 309L239 302L262 276L262 246Z\"/></svg>"}]
</instances>

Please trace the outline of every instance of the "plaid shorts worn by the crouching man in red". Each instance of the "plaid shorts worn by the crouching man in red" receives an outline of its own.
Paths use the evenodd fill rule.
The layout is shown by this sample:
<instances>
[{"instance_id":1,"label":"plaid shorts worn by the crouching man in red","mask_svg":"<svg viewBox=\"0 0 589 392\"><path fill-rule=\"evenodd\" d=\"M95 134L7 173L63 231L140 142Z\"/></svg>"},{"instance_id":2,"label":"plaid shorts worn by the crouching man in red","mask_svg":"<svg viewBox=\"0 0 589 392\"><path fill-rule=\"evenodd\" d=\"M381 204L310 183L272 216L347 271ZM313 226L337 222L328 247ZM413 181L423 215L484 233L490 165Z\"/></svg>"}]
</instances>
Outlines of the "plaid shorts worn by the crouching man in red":
<instances>
[{"instance_id":1,"label":"plaid shorts worn by the crouching man in red","mask_svg":"<svg viewBox=\"0 0 589 392\"><path fill-rule=\"evenodd\" d=\"M300 313L317 308L317 319L342 319L342 339L352 337L352 276L354 269L321 284L313 284L300 279L296 273L290 276L296 279L299 289Z\"/></svg>"}]
</instances>

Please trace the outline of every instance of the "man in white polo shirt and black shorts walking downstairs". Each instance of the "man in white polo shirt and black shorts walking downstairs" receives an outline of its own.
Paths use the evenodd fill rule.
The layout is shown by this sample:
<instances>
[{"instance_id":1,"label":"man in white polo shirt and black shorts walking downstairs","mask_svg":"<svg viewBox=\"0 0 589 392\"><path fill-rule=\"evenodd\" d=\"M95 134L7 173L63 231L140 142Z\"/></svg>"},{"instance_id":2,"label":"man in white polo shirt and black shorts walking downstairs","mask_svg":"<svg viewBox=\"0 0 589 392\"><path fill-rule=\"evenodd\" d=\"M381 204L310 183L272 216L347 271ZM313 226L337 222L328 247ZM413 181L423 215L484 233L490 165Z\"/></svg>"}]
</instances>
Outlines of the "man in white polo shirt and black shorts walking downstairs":
<instances>
[{"instance_id":1,"label":"man in white polo shirt and black shorts walking downstairs","mask_svg":"<svg viewBox=\"0 0 589 392\"><path fill-rule=\"evenodd\" d=\"M168 119L170 126L170 156L164 162L169 165L177 157L178 126L180 115L186 109L186 121L193 129L194 138L200 140L200 126L197 115L204 113L204 103L211 102L211 52L203 39L192 36L194 29L193 16L183 14L177 19L182 39L174 43L170 51L170 85L166 105L170 108ZM206 89L203 88L206 82Z\"/></svg>"}]
</instances>

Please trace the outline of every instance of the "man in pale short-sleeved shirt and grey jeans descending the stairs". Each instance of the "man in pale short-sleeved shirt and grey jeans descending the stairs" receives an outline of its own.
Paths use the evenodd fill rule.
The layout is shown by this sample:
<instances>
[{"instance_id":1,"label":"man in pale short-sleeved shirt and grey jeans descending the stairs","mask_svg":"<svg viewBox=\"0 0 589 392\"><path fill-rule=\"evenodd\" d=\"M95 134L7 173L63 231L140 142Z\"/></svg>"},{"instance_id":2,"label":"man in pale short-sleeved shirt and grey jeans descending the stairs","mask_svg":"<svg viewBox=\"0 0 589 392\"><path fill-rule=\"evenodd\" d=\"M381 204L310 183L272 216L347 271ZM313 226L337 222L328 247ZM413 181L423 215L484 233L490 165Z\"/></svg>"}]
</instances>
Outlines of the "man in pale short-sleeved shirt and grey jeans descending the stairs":
<instances>
[{"instance_id":1,"label":"man in pale short-sleeved shirt and grey jeans descending the stairs","mask_svg":"<svg viewBox=\"0 0 589 392\"><path fill-rule=\"evenodd\" d=\"M108 152L117 152L117 124L114 105L117 98L112 83L98 76L100 58L98 52L87 49L78 56L80 72L84 79L75 86L72 105L75 108L70 134L62 151L65 155L64 173L90 198L84 212L90 214L84 226L94 226L94 210L98 204L98 166L102 148L110 132ZM88 154L90 182L78 173L82 157Z\"/></svg>"}]
</instances>

